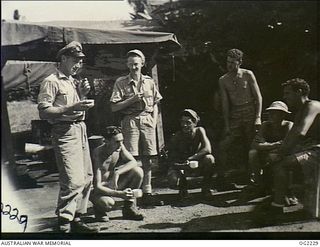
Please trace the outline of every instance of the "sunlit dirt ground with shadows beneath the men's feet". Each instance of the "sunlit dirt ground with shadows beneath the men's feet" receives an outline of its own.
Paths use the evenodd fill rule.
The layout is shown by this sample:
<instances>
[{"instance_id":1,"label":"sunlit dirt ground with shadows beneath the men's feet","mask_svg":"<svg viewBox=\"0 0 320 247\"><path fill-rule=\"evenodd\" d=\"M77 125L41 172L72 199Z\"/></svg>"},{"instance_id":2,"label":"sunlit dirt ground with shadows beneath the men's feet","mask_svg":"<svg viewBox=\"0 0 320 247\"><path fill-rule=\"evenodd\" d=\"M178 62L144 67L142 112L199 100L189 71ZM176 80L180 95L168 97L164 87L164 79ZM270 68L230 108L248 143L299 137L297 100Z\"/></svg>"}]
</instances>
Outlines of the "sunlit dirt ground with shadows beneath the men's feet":
<instances>
[{"instance_id":1,"label":"sunlit dirt ground with shadows beneath the men's feet","mask_svg":"<svg viewBox=\"0 0 320 247\"><path fill-rule=\"evenodd\" d=\"M24 188L10 189L7 166L2 166L2 203L19 207L20 214L28 215L26 232L56 232L57 220L54 213L59 184L58 174L43 167L29 167L33 181ZM22 178L25 179L25 178ZM318 232L320 222L307 219L298 212L286 213L285 219L277 223L256 222L254 207L267 198L256 198L241 205L232 206L241 190L227 190L212 193L211 198L202 199L197 188L200 179L190 181L191 198L179 201L178 191L166 188L166 177L158 175L153 179L155 194L165 203L155 208L141 208L143 221L123 220L122 202L119 200L113 211L108 213L109 222L95 222L90 203L85 220L90 225L100 226L101 233L181 233L181 232ZM16 200L15 200L16 199ZM18 206L17 206L18 205ZM270 215L268 218L271 218ZM1 215L2 232L21 232L17 224ZM7 224L7 225L6 225ZM12 226L16 226L12 227Z\"/></svg>"}]
</instances>

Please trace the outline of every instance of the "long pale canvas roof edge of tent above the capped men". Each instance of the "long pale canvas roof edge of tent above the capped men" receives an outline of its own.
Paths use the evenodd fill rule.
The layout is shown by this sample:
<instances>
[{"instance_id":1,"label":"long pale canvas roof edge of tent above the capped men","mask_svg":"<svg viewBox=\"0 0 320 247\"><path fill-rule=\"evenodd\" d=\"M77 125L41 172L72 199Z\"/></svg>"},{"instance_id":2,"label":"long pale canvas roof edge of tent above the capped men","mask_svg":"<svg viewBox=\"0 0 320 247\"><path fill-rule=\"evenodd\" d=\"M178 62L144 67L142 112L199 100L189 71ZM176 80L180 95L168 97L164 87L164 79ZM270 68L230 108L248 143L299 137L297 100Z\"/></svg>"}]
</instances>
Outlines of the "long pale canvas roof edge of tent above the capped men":
<instances>
[{"instance_id":1,"label":"long pale canvas roof edge of tent above the capped men","mask_svg":"<svg viewBox=\"0 0 320 247\"><path fill-rule=\"evenodd\" d=\"M1 23L1 46L22 45L43 39L44 42L60 43L77 40L82 44L143 44L170 43L173 49L180 44L172 33L145 31L118 31L87 28L45 26L35 23Z\"/></svg>"}]
</instances>

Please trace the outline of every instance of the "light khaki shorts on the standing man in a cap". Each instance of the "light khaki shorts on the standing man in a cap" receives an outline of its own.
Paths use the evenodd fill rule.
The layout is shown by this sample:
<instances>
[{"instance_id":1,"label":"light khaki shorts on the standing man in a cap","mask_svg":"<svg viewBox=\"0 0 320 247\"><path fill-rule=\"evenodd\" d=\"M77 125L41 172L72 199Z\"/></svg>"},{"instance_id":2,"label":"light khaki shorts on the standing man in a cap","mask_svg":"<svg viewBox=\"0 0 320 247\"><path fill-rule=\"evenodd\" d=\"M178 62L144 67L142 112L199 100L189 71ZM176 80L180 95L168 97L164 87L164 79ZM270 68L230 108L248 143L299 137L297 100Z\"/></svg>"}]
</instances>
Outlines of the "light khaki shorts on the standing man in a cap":
<instances>
[{"instance_id":1,"label":"light khaki shorts on the standing man in a cap","mask_svg":"<svg viewBox=\"0 0 320 247\"><path fill-rule=\"evenodd\" d=\"M157 155L156 129L151 114L125 116L121 125L123 143L133 156Z\"/></svg>"}]
</instances>

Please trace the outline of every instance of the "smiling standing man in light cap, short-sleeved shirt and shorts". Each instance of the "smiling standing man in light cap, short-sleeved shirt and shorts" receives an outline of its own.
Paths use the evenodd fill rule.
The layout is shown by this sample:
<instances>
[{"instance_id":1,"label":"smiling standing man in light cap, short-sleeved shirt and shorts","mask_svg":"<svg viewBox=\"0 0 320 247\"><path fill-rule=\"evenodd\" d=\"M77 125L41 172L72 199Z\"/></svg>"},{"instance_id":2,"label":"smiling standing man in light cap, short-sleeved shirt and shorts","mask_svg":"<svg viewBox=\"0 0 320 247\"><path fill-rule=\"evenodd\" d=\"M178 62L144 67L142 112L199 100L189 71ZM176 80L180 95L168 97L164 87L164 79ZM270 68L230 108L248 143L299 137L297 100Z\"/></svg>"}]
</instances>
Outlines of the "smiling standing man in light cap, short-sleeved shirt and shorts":
<instances>
[{"instance_id":1,"label":"smiling standing man in light cap, short-sleeved shirt and shorts","mask_svg":"<svg viewBox=\"0 0 320 247\"><path fill-rule=\"evenodd\" d=\"M143 198L145 205L162 205L152 196L152 156L157 155L156 125L158 103L162 99L151 77L143 75L141 69L145 56L140 50L127 53L130 73L117 79L111 95L111 110L123 116L121 125L124 145L135 157L140 156L144 171Z\"/></svg>"}]
</instances>

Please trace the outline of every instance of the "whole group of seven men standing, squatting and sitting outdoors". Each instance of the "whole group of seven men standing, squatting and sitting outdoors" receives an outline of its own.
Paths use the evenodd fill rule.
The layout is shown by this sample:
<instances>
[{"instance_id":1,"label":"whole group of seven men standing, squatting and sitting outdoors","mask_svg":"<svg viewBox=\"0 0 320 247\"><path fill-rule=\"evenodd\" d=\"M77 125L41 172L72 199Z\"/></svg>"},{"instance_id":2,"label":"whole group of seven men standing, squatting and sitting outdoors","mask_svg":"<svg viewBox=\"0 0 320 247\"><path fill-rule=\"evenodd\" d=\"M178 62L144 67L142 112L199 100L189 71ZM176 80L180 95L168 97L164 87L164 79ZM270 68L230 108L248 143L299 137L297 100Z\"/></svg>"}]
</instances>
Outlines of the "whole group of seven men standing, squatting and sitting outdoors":
<instances>
[{"instance_id":1,"label":"whole group of seven men standing, squatting and sitting outdoors","mask_svg":"<svg viewBox=\"0 0 320 247\"><path fill-rule=\"evenodd\" d=\"M272 205L282 207L288 189L288 171L294 166L319 163L320 102L308 99L310 90L304 80L286 82L284 99L297 110L293 126L284 121L284 114L289 113L286 105L274 102L267 109L273 112L270 121L262 124L254 150L249 153L261 125L262 97L252 71L240 68L242 56L238 49L228 52L228 72L219 80L226 138L221 143L218 165L226 167L228 160L224 154L232 149L237 138L241 138L250 154L251 178L255 180L263 168L256 165L260 164L256 162L260 161L257 153L264 153L275 171ZM136 207L136 198L141 196L137 196L137 189L141 186L142 204L163 205L153 196L151 187L151 168L157 155L158 103L162 96L152 78L141 73L144 54L140 50L127 54L129 74L116 80L110 99L112 111L121 113L121 127L109 126L102 130L104 143L92 152L92 161L84 119L94 101L86 98L90 91L88 80L74 79L84 57L79 42L73 41L63 47L57 54L60 63L56 72L44 79L38 96L39 115L52 125L60 178L56 214L59 231L65 233L99 231L81 218L87 212L89 200L100 221L108 220L107 212L114 206L115 197L124 200L124 219L143 220L143 214ZM178 186L182 197L188 196L186 176L194 168L203 175L202 194L211 195L216 160L205 129L197 126L199 120L194 110L183 110L181 131L173 136L169 145L172 164L169 183ZM142 166L137 160L141 160Z\"/></svg>"}]
</instances>

